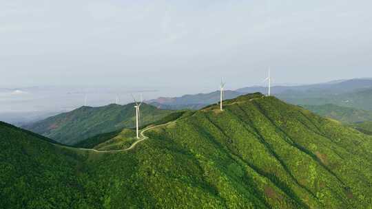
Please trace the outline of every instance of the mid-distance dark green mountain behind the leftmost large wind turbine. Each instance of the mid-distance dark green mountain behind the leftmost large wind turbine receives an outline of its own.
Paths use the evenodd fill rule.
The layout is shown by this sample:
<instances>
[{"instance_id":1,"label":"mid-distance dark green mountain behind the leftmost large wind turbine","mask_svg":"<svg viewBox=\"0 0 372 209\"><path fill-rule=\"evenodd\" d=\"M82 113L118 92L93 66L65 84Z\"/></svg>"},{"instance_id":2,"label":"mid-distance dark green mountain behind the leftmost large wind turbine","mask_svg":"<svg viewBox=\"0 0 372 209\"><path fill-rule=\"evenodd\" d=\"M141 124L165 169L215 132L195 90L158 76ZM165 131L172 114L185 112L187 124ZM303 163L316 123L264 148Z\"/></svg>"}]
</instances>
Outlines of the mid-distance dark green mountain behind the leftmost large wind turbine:
<instances>
[{"instance_id":1,"label":"mid-distance dark green mountain behind the leftmost large wind turbine","mask_svg":"<svg viewBox=\"0 0 372 209\"><path fill-rule=\"evenodd\" d=\"M141 124L149 124L171 113L148 104L141 106ZM81 107L35 122L23 128L63 144L76 144L99 133L132 128L136 122L134 104Z\"/></svg>"}]
</instances>

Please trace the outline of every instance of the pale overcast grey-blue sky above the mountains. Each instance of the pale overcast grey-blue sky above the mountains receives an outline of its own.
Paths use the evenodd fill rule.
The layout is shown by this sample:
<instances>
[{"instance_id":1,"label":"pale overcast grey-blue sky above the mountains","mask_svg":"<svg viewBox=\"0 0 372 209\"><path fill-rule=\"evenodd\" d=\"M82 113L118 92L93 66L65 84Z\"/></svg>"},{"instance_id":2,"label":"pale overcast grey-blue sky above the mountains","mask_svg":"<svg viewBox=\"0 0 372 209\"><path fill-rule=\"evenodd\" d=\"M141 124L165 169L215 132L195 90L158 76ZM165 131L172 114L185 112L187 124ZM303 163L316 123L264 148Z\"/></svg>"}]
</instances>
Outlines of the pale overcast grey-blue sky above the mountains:
<instances>
[{"instance_id":1,"label":"pale overcast grey-blue sky above the mountains","mask_svg":"<svg viewBox=\"0 0 372 209\"><path fill-rule=\"evenodd\" d=\"M0 87L372 77L372 1L0 0ZM167 90L163 90L167 91ZM165 92L167 93L167 92Z\"/></svg>"}]
</instances>

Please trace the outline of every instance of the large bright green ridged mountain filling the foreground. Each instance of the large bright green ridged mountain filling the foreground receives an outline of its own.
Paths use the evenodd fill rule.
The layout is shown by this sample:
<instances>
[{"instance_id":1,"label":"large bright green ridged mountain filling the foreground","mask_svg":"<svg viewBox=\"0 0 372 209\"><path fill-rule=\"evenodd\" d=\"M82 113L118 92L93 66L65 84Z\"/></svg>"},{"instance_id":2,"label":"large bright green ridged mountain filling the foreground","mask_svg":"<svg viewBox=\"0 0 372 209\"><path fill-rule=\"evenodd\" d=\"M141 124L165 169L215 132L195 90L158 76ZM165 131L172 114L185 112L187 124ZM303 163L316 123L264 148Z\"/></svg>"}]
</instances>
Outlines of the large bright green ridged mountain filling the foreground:
<instances>
[{"instance_id":1,"label":"large bright green ridged mountain filling the foreground","mask_svg":"<svg viewBox=\"0 0 372 209\"><path fill-rule=\"evenodd\" d=\"M23 183L11 180L17 175L28 176L26 170L2 174L6 181L1 184L6 186L0 187L1 205L371 207L372 136L262 94L240 96L224 104L224 111L211 105L173 114L163 124L143 129L148 138L134 148L110 153L53 146L23 132L21 143L19 136L0 126L1 139L6 142L1 144L1 168L30 166L40 170L32 173L34 178L19 177ZM122 134L123 138L132 137L132 133ZM112 140L112 136L107 138ZM27 153L28 146L32 157L13 155ZM49 173L44 172L48 169ZM39 177L48 181L39 182ZM33 194L27 196L29 192Z\"/></svg>"}]
</instances>

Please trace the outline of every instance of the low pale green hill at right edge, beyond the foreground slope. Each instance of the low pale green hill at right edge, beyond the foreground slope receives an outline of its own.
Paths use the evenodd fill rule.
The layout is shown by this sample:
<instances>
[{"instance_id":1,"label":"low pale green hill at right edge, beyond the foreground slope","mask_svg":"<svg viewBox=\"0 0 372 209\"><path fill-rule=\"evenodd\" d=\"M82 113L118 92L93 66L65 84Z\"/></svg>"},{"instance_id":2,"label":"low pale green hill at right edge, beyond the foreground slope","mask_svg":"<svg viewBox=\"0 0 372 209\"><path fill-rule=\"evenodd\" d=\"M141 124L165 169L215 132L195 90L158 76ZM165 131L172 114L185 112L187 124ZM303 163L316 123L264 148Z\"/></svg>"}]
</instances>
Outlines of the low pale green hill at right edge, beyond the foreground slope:
<instances>
[{"instance_id":1,"label":"low pale green hill at right edge, beyond the foreground slope","mask_svg":"<svg viewBox=\"0 0 372 209\"><path fill-rule=\"evenodd\" d=\"M304 109L308 109L313 113L322 115L326 118L332 118L344 123L355 123L372 121L372 112L351 107L340 107L335 104L323 105L301 105Z\"/></svg>"}]
</instances>

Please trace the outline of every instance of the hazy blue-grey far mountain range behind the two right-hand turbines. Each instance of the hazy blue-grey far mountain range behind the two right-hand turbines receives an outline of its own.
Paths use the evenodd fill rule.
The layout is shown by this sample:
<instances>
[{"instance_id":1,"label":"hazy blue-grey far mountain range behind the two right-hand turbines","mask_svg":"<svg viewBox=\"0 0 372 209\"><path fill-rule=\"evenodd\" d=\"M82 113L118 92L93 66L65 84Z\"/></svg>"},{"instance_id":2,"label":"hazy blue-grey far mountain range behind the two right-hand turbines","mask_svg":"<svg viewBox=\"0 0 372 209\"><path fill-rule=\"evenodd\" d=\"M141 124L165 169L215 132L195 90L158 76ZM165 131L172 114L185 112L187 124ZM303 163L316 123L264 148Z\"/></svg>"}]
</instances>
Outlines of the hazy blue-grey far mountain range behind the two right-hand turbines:
<instances>
[{"instance_id":1,"label":"hazy blue-grey far mountain range behind the two right-hand turbines","mask_svg":"<svg viewBox=\"0 0 372 209\"><path fill-rule=\"evenodd\" d=\"M267 87L245 87L234 91L226 91L225 98L236 98L243 94L260 92L266 94ZM372 111L372 79L358 78L336 80L329 83L299 86L273 86L273 95L292 104L337 104ZM219 102L218 91L209 94L185 95L175 98L158 98L147 103L163 109L200 109L209 104Z\"/></svg>"}]
</instances>

